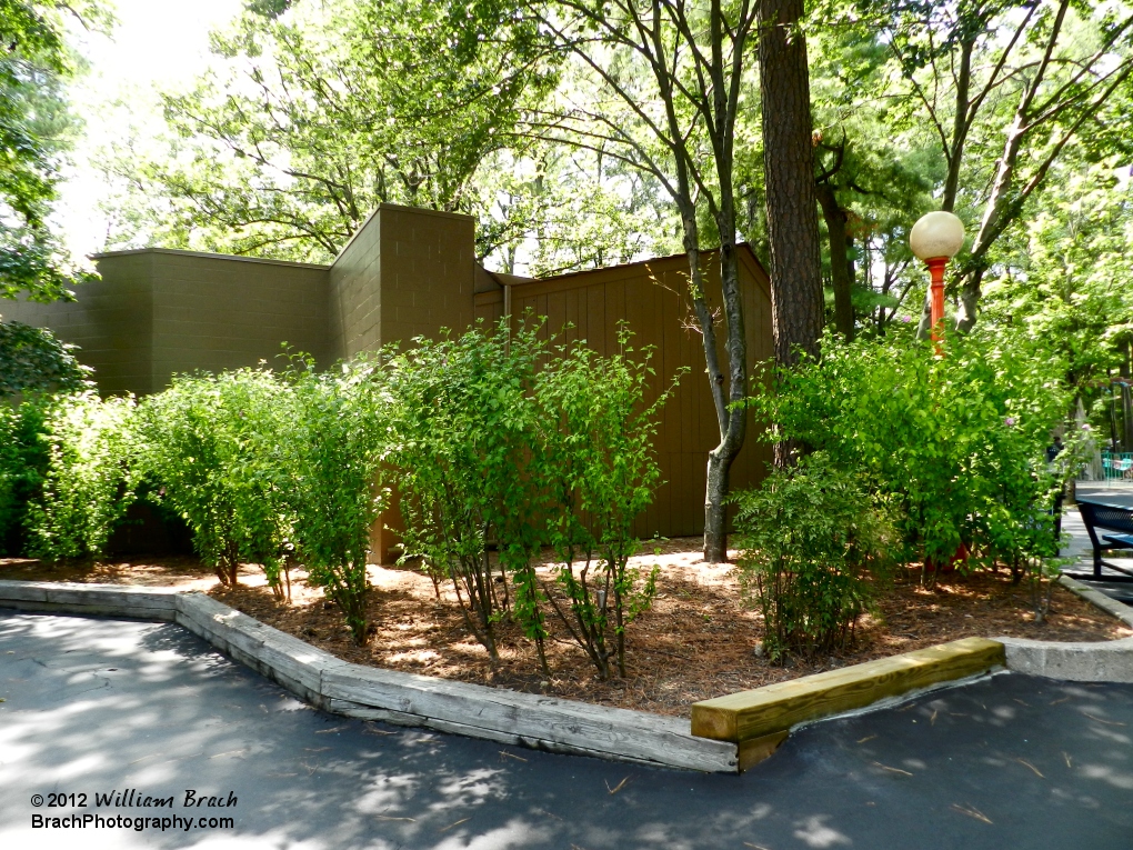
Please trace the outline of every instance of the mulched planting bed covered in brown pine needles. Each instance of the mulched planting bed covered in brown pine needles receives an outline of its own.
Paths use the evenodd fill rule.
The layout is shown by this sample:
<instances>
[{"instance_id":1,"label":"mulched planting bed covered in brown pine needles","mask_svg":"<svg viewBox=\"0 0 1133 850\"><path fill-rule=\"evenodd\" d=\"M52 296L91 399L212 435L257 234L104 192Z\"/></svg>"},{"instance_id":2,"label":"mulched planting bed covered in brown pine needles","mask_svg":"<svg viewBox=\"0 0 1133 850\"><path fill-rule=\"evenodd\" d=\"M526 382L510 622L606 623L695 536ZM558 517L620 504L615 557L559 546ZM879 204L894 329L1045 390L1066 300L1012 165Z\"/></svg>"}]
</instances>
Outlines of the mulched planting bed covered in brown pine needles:
<instances>
[{"instance_id":1,"label":"mulched planting bed covered in brown pine needles","mask_svg":"<svg viewBox=\"0 0 1133 850\"><path fill-rule=\"evenodd\" d=\"M589 660L555 621L548 622L550 680L539 672L531 641L508 623L500 624L501 663L493 670L486 651L468 636L451 588L442 586L437 601L432 581L411 569L370 568L376 592L369 613L376 632L366 647L350 641L339 611L321 590L306 585L301 571L292 573L290 606L274 602L258 568L242 567L240 586L225 589L193 558L95 564L7 559L0 560L0 578L199 589L347 661L684 716L699 699L962 637L1109 640L1133 635L1060 587L1048 621L1036 624L1025 585L1013 586L1005 572L947 575L925 589L919 570L909 569L894 577L877 614L859 623L853 647L777 666L759 653L761 619L740 604L732 568L704 563L699 546L700 538L678 538L659 555L636 559L644 566L659 564L657 598L627 631L627 678L607 682L597 679ZM546 567L544 571L550 580Z\"/></svg>"}]
</instances>

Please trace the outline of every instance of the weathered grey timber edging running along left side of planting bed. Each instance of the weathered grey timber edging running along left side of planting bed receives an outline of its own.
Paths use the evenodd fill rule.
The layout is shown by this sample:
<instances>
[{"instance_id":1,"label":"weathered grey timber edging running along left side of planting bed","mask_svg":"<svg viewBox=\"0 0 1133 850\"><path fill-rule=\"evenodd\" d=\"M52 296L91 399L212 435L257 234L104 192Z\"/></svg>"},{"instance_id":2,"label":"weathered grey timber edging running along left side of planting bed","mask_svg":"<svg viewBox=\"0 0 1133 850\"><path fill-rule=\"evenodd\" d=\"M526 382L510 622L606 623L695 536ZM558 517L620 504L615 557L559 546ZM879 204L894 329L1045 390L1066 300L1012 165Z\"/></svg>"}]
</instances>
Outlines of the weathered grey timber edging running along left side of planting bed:
<instances>
[{"instance_id":1,"label":"weathered grey timber edging running along left side of planting bed","mask_svg":"<svg viewBox=\"0 0 1133 850\"><path fill-rule=\"evenodd\" d=\"M0 581L0 606L173 621L325 711L655 767L736 773L739 747L646 712L350 664L201 593Z\"/></svg>"}]
</instances>

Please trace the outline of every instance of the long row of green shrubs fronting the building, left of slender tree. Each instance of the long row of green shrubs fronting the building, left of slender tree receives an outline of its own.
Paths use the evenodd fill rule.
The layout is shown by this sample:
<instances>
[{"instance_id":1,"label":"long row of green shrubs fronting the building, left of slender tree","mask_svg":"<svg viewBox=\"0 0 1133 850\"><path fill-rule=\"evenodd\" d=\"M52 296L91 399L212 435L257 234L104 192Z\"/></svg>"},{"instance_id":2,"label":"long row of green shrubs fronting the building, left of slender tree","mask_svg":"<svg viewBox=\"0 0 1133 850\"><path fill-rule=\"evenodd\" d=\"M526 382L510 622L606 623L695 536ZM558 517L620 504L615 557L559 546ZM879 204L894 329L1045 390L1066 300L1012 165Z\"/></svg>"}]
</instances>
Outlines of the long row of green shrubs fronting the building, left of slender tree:
<instances>
[{"instance_id":1,"label":"long row of green shrubs fronting the building, left of slender tree","mask_svg":"<svg viewBox=\"0 0 1133 850\"><path fill-rule=\"evenodd\" d=\"M624 675L625 629L655 593L656 570L629 562L668 393L646 402L649 357L625 332L611 357L552 351L540 332L477 326L325 373L296 358L282 375L182 375L136 406L92 391L0 406L0 535L9 551L26 533L34 554L97 556L146 492L223 585L258 563L283 601L303 563L364 644L370 533L395 481L406 559L452 581L493 658L506 617L550 672L552 604L604 678L615 655ZM569 613L536 570L548 543Z\"/></svg>"}]
</instances>

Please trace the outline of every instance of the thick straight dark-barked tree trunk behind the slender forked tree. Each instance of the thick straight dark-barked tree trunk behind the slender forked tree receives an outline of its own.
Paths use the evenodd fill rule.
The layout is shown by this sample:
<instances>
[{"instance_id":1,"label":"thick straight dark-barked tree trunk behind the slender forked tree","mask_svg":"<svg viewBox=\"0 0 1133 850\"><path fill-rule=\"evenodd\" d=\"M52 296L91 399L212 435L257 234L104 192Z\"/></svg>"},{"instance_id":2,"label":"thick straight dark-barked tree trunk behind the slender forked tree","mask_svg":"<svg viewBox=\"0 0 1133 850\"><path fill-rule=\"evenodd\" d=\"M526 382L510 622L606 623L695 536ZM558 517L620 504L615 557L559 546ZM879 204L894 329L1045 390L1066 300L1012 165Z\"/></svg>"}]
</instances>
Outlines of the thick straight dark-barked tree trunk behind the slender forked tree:
<instances>
[{"instance_id":1,"label":"thick straight dark-barked tree trunk behind the slender forked tree","mask_svg":"<svg viewBox=\"0 0 1133 850\"><path fill-rule=\"evenodd\" d=\"M799 26L802 16L802 0L763 0L759 5L772 323L775 359L783 366L796 363L800 352L817 356L823 330L810 77L807 42ZM776 465L789 465L794 448L777 444Z\"/></svg>"}]
</instances>

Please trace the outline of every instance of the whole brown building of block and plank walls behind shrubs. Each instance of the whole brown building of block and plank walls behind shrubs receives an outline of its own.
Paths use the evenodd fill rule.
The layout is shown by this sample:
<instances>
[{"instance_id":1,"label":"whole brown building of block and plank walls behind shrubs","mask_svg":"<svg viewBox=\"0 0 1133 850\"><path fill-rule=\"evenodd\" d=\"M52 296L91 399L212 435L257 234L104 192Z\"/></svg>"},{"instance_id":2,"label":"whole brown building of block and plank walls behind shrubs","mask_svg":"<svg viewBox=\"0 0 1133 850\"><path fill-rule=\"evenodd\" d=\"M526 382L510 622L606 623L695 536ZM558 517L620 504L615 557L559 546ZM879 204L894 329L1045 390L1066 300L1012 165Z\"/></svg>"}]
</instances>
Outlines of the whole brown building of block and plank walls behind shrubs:
<instances>
[{"instance_id":1,"label":"whole brown building of block and plank walls behind shrubs","mask_svg":"<svg viewBox=\"0 0 1133 850\"><path fill-rule=\"evenodd\" d=\"M270 363L287 341L327 365L387 342L463 331L475 318L497 321L528 308L557 333L586 339L599 352L616 346L620 320L636 348L655 346L653 398L680 366L689 366L664 408L657 450L665 484L639 519L637 533L700 534L705 465L718 434L704 374L700 335L684 304L683 255L590 272L526 280L478 269L474 220L467 215L383 204L332 266L194 252L143 249L97 257L102 281L79 290L75 304L0 303L0 313L50 326L82 346L105 393L154 392L176 372L219 371ZM740 250L748 365L772 357L767 275ZM708 297L719 303L717 270L706 255ZM723 333L721 334L723 338ZM724 359L723 339L721 358ZM650 399L651 400L651 399ZM749 423L732 484L761 479L769 447ZM397 526L392 511L380 525ZM375 529L375 555L389 560L395 534Z\"/></svg>"}]
</instances>

